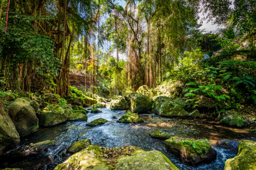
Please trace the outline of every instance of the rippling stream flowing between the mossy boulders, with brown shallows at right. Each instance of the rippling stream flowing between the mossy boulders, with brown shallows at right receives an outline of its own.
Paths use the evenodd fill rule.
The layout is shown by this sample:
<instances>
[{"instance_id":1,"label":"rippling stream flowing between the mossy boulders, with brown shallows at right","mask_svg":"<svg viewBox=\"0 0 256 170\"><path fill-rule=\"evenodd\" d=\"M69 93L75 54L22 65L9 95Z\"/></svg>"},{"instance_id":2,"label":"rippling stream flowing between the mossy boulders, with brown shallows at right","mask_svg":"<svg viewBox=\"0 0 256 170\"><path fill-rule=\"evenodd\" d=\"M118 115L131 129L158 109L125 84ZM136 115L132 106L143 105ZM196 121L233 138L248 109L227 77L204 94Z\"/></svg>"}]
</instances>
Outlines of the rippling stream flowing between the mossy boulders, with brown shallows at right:
<instances>
[{"instance_id":1,"label":"rippling stream flowing between the mossy boulders, with brown shallows at right","mask_svg":"<svg viewBox=\"0 0 256 170\"><path fill-rule=\"evenodd\" d=\"M237 150L228 150L215 144L225 138L255 140L256 137L246 129L227 128L210 122L205 123L203 120L162 118L152 114L140 115L144 123L123 124L116 122L124 114L123 111L112 111L109 109L109 105L100 110L102 110L101 113L88 113L87 122L65 122L50 128L39 128L38 132L21 138L19 147L44 140L55 140L56 146L26 160L8 160L3 163L0 161L0 169L8 167L23 168L24 170L53 170L56 165L63 163L70 156L70 154L66 154L66 150L72 143L88 138L92 145L101 147L133 145L141 147L143 150L158 150L180 170L224 170L225 160L235 157ZM86 126L88 122L100 117L109 122L93 128ZM167 150L164 140L150 137L151 130L163 130L186 138L207 138L217 151L217 159L210 164L198 166L182 163L178 157Z\"/></svg>"}]
</instances>

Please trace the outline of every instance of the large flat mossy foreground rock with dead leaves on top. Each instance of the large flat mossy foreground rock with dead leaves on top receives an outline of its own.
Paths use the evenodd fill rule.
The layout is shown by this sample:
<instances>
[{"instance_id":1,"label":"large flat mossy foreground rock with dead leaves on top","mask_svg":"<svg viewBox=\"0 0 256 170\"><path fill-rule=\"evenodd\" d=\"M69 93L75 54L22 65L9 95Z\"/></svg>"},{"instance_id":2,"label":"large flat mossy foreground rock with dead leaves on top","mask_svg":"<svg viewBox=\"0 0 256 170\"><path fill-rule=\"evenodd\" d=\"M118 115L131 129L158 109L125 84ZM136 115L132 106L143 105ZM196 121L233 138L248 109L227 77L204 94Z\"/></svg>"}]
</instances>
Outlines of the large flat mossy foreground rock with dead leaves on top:
<instances>
[{"instance_id":1,"label":"large flat mossy foreground rock with dead leaves on top","mask_svg":"<svg viewBox=\"0 0 256 170\"><path fill-rule=\"evenodd\" d=\"M179 170L165 155L156 150L144 151L134 146L102 148L89 145L70 156L54 170Z\"/></svg>"}]
</instances>

